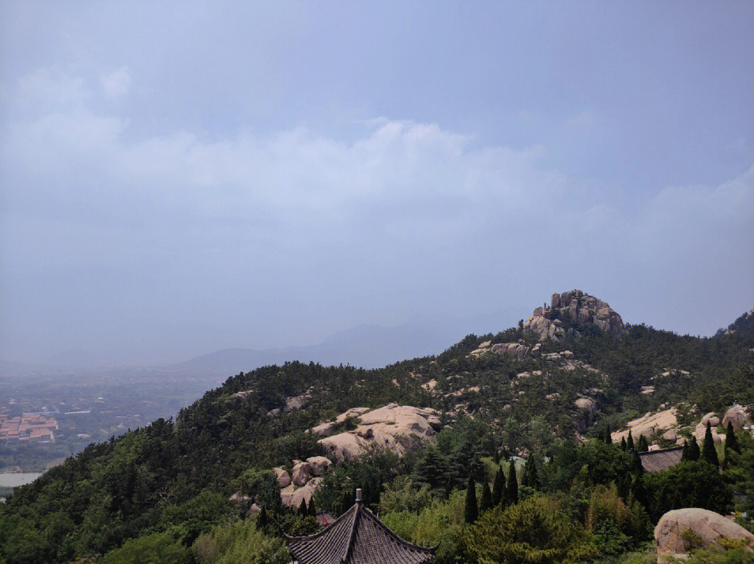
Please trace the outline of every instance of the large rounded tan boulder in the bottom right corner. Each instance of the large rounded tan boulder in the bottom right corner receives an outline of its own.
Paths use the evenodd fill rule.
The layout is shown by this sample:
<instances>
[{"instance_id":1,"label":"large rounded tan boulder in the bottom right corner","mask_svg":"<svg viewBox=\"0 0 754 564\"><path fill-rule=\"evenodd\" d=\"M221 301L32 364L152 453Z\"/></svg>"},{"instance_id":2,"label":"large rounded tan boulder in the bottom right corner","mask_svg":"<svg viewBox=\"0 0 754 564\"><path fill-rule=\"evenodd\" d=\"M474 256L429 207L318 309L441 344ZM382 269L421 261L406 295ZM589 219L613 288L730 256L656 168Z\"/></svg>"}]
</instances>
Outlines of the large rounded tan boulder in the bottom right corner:
<instances>
[{"instance_id":1,"label":"large rounded tan boulder in the bottom right corner","mask_svg":"<svg viewBox=\"0 0 754 564\"><path fill-rule=\"evenodd\" d=\"M684 535L688 530L697 536L695 546L690 546L688 534ZM668 511L654 528L657 562L668 562L671 557L685 558L692 547L713 547L721 538L749 539L747 548L754 550L754 535L714 511L698 508Z\"/></svg>"}]
</instances>

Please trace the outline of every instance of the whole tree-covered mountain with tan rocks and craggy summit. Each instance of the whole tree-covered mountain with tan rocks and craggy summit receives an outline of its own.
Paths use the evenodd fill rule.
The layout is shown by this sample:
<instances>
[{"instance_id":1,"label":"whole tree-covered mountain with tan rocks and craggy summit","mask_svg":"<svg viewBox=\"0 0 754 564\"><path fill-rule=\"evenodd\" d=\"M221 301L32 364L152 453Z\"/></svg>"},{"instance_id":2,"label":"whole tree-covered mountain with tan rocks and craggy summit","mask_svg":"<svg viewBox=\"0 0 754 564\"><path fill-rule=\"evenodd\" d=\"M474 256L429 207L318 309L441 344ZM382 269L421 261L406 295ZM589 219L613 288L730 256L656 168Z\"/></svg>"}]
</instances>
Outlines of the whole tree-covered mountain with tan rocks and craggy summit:
<instances>
[{"instance_id":1,"label":"whole tree-covered mountain with tan rocks and craggy summit","mask_svg":"<svg viewBox=\"0 0 754 564\"><path fill-rule=\"evenodd\" d=\"M155 552L159 545L185 554L174 562L209 564L228 543L247 560L270 547L277 556L254 552L256 561L287 562L283 533L305 535L318 525L284 504L304 513L311 507L302 500L313 500L336 515L352 503L355 487L409 540L440 544L438 564L474 562L464 547L486 546L486 539L497 546L507 534L499 523L520 520L527 530L531 512L544 528L537 529L543 542L577 539L584 543L578 561L618 562L615 556L640 550L670 509L751 514L754 441L744 431L737 434L740 457L717 448L723 471L709 462L714 444L705 449L708 462L642 473L636 451L605 441L608 430L625 436L628 428L639 430L629 422L653 414L673 422L673 435L643 426L651 448L704 436L706 422L722 440L728 411L737 425L750 421L749 317L716 337L682 336L626 325L605 301L574 290L553 294L550 306L518 326L469 334L440 354L382 368L294 361L250 370L241 367L268 358L243 350L202 357L195 360L202 369L229 363L228 375L235 375L174 421L158 419L90 445L14 492L0 510L0 562L96 554L121 562L119 550ZM402 331L422 343L421 331ZM380 346L395 346L394 335L357 328L327 340L320 354L348 346L375 355ZM329 466L321 456L336 464L318 476L311 468ZM509 479L506 490L518 493L506 498L507 508L480 517L479 526L456 520L469 478L491 483L501 458L510 460L509 478L518 464L516 487ZM308 459L311 465L301 462ZM260 506L265 517L249 517ZM242 541L244 547L234 544Z\"/></svg>"}]
</instances>

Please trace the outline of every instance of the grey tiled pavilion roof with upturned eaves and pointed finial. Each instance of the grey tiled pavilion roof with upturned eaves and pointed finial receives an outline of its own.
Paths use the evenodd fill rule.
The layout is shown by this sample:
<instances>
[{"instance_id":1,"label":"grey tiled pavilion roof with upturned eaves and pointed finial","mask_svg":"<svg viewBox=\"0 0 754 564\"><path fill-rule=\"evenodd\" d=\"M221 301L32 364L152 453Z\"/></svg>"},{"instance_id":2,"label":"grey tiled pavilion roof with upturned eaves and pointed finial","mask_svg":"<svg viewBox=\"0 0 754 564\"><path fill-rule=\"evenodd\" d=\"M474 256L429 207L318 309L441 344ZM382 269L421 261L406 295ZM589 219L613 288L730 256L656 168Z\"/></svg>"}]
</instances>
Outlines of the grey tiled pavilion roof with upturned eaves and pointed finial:
<instances>
[{"instance_id":1,"label":"grey tiled pavilion roof with upturned eaves and pointed finial","mask_svg":"<svg viewBox=\"0 0 754 564\"><path fill-rule=\"evenodd\" d=\"M356 504L320 532L288 537L288 548L299 564L432 562L434 548L404 541L363 506L358 494Z\"/></svg>"}]
</instances>

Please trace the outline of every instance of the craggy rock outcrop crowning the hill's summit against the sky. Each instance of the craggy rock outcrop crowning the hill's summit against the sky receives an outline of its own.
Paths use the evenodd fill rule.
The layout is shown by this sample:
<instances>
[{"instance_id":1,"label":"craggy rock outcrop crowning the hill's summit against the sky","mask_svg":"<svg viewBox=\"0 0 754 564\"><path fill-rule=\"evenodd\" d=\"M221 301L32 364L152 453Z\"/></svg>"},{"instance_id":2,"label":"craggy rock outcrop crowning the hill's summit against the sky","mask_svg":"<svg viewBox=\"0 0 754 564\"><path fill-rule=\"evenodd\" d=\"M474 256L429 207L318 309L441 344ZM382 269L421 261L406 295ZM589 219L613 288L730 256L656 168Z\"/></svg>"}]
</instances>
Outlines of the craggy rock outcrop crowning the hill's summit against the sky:
<instances>
[{"instance_id":1,"label":"craggy rock outcrop crowning the hill's summit against the sky","mask_svg":"<svg viewBox=\"0 0 754 564\"><path fill-rule=\"evenodd\" d=\"M623 319L608 303L581 290L553 294L550 306L544 304L534 310L523 325L525 334L537 334L540 340L557 340L565 334L567 321L593 323L605 333L621 335L626 330Z\"/></svg>"}]
</instances>

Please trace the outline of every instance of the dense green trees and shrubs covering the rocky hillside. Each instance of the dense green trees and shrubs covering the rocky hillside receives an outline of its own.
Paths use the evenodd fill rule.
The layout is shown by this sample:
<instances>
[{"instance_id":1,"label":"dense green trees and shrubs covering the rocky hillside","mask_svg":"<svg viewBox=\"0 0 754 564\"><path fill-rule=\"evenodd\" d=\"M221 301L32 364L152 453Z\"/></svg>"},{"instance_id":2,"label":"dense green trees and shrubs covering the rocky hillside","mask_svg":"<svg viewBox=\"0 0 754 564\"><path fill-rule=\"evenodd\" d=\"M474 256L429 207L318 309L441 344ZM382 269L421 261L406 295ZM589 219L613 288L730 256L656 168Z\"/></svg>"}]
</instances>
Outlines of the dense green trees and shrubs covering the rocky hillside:
<instances>
[{"instance_id":1,"label":"dense green trees and shrubs covering the rocky hillside","mask_svg":"<svg viewBox=\"0 0 754 564\"><path fill-rule=\"evenodd\" d=\"M608 426L661 404L681 406L689 420L734 401L754 404L754 316L709 339L643 325L621 338L593 325L569 328L539 358L469 355L483 340L533 343L514 328L379 370L288 363L240 373L176 420L90 445L17 489L0 513L0 562L287 562L282 532L312 532L317 523L313 508L280 507L269 469L321 454L305 433L318 422L391 401L434 407L452 425L403 458L375 451L338 465L314 505L338 514L358 486L400 535L439 544L440 564L612 562L645 553L642 543L672 508L725 512L735 500L751 511L746 433L737 437L740 453L719 449L722 474L705 459L644 474L634 450L604 437ZM566 349L578 362L546 357ZM658 377L671 369L688 375ZM423 387L430 380L432 393ZM638 393L649 384L652 395ZM246 390L247 399L233 396ZM307 392L301 409L280 409ZM595 399L596 413L575 406L580 395ZM578 446L577 433L593 438ZM259 495L265 511L229 504L239 490Z\"/></svg>"}]
</instances>

